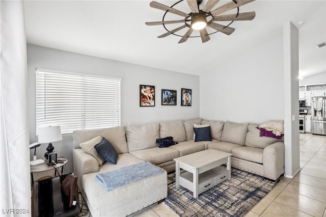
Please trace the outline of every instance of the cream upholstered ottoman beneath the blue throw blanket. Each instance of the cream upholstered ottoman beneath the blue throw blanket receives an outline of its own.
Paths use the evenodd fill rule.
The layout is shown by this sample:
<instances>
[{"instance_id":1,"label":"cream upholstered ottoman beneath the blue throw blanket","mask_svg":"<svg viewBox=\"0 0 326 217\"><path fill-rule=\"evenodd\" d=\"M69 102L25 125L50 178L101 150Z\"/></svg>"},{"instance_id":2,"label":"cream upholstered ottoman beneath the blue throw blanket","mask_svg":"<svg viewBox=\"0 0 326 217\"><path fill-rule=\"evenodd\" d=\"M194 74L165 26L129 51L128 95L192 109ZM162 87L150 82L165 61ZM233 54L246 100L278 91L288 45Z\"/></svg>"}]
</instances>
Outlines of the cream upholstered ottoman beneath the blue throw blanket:
<instances>
[{"instance_id":1,"label":"cream upholstered ottoman beneath the blue throw blanket","mask_svg":"<svg viewBox=\"0 0 326 217\"><path fill-rule=\"evenodd\" d=\"M153 167L156 167L153 165ZM137 171L134 171L137 173ZM130 182L111 191L95 180L98 173L85 174L85 200L95 216L126 216L137 212L168 195L167 172Z\"/></svg>"}]
</instances>

